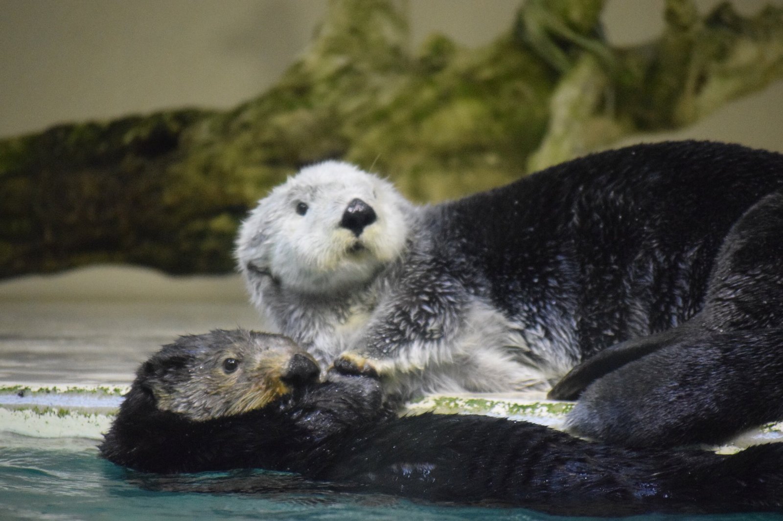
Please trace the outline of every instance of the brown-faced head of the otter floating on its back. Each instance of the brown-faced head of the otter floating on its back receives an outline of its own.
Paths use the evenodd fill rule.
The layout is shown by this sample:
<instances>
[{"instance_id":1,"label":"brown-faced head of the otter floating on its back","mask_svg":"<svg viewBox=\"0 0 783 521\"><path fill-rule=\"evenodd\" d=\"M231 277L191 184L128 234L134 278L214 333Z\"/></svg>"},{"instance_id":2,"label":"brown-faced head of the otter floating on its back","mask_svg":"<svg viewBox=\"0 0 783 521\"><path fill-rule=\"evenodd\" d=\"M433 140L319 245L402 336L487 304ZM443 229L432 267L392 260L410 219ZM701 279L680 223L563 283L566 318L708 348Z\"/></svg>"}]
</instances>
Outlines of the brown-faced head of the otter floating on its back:
<instances>
[{"instance_id":1,"label":"brown-faced head of the otter floating on its back","mask_svg":"<svg viewBox=\"0 0 783 521\"><path fill-rule=\"evenodd\" d=\"M216 330L164 346L139 368L135 385L152 393L158 410L204 421L263 408L318 375L286 336Z\"/></svg>"}]
</instances>

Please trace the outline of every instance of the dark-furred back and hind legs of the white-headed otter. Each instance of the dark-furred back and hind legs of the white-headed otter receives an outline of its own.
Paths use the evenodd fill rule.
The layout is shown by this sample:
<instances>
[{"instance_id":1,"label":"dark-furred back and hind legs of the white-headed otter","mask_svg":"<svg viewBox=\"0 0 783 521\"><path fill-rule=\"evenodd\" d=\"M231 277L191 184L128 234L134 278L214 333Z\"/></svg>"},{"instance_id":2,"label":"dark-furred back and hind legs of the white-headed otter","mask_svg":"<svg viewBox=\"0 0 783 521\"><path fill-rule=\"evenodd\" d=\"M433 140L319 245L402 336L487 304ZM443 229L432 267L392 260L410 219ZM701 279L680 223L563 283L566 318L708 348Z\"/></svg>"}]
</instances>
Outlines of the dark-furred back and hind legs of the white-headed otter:
<instances>
[{"instance_id":1,"label":"dark-furred back and hind legs of the white-headed otter","mask_svg":"<svg viewBox=\"0 0 783 521\"><path fill-rule=\"evenodd\" d=\"M781 154L632 146L432 211L432 270L521 324L528 363L584 362L550 393L581 395L576 433L719 443L783 419Z\"/></svg>"}]
</instances>

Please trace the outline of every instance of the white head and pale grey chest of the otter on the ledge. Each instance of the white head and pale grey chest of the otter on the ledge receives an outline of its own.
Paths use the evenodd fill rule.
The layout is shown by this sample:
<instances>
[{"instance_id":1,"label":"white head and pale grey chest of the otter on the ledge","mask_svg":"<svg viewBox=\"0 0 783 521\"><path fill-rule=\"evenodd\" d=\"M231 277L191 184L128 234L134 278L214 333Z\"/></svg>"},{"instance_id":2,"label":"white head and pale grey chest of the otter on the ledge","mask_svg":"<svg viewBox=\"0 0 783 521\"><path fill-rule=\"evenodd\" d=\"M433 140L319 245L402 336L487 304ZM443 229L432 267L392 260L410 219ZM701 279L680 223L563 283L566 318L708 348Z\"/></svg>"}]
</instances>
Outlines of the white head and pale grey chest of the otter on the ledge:
<instances>
[{"instance_id":1,"label":"white head and pale grey chest of the otter on the ledge","mask_svg":"<svg viewBox=\"0 0 783 521\"><path fill-rule=\"evenodd\" d=\"M354 200L374 218L350 229L343 221ZM523 325L433 270L438 210L414 206L346 163L306 168L262 199L240 231L251 298L324 365L352 357L389 390L547 390L579 354L558 356L548 342L531 352Z\"/></svg>"}]
</instances>

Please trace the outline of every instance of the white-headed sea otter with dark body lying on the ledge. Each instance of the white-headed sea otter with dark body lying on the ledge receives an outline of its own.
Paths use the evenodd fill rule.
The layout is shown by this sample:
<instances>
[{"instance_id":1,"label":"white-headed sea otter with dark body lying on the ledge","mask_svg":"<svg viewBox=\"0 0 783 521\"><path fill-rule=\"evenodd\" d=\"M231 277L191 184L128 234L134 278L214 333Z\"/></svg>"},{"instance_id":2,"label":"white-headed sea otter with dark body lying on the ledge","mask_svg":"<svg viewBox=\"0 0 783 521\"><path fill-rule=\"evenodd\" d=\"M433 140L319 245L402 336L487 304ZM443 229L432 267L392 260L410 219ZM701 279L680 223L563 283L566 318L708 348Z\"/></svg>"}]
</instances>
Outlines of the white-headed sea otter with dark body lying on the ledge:
<instances>
[{"instance_id":1,"label":"white-headed sea otter with dark body lying on the ledge","mask_svg":"<svg viewBox=\"0 0 783 521\"><path fill-rule=\"evenodd\" d=\"M390 392L546 391L576 367L550 390L582 394L576 433L718 443L783 419L781 190L781 154L717 142L423 207L329 161L261 199L236 257L280 332Z\"/></svg>"}]
</instances>

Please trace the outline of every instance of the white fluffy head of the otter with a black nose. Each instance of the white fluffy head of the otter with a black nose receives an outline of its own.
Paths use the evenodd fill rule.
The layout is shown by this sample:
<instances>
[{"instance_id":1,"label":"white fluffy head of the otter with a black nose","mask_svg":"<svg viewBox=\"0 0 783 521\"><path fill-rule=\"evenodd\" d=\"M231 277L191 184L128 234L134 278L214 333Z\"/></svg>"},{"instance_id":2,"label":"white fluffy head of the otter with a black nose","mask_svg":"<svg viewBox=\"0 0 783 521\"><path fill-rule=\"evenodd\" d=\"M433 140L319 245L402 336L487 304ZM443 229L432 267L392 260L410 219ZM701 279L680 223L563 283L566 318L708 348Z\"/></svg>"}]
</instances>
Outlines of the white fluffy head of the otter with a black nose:
<instances>
[{"instance_id":1,"label":"white fluffy head of the otter with a black nose","mask_svg":"<svg viewBox=\"0 0 783 521\"><path fill-rule=\"evenodd\" d=\"M390 183L348 163L302 169L240 228L236 256L256 304L264 279L312 295L369 281L402 252L410 208Z\"/></svg>"}]
</instances>

